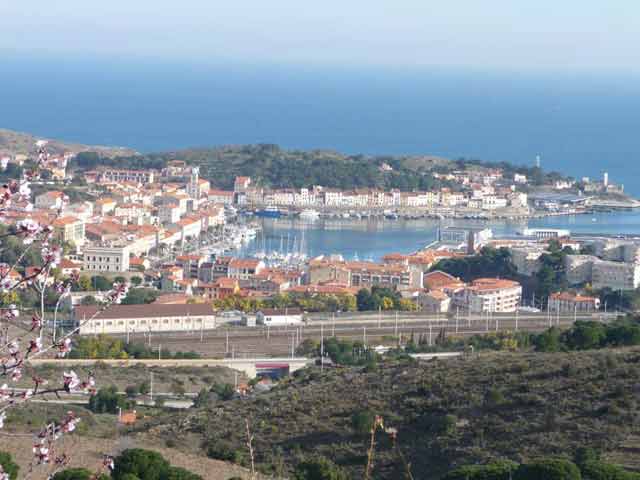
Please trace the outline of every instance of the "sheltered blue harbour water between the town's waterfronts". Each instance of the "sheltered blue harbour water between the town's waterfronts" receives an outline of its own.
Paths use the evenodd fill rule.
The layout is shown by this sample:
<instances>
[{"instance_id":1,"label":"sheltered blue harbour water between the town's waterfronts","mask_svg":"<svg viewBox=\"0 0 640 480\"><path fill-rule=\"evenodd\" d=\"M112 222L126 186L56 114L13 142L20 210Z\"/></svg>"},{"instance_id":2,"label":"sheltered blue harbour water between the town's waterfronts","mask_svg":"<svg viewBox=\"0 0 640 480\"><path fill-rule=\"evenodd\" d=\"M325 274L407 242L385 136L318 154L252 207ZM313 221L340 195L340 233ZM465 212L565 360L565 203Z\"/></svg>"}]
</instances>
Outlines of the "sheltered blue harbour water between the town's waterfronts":
<instances>
[{"instance_id":1,"label":"sheltered blue harbour water between the town's waterfronts","mask_svg":"<svg viewBox=\"0 0 640 480\"><path fill-rule=\"evenodd\" d=\"M338 253L347 259L379 260L391 252L411 253L436 239L440 225L486 226L494 235L512 236L523 228L566 228L580 234L640 236L640 212L599 213L513 221L264 219L263 230L241 253L304 251L309 256Z\"/></svg>"}]
</instances>

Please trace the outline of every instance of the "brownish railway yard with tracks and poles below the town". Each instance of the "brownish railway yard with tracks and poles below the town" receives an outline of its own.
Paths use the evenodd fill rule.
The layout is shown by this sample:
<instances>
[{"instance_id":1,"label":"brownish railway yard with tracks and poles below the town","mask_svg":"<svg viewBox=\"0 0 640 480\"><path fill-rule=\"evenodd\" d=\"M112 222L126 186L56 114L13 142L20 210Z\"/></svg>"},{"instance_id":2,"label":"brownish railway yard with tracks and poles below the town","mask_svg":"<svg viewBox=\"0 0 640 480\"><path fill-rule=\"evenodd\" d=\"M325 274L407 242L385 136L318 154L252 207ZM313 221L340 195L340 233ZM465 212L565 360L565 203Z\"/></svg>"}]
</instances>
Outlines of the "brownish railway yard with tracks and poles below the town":
<instances>
[{"instance_id":1,"label":"brownish railway yard with tracks and poles below the town","mask_svg":"<svg viewBox=\"0 0 640 480\"><path fill-rule=\"evenodd\" d=\"M395 344L408 335L426 336L435 341L440 332L446 336L471 336L496 331L540 332L550 326L568 327L575 320L611 321L616 313L548 315L521 313L500 315L442 315L420 314L355 314L325 320L312 319L298 326L267 328L226 325L216 330L194 332L132 334L131 342L144 342L154 349L195 351L208 357L245 358L263 355L291 355L305 339L319 341L321 337L359 340L371 344ZM121 338L125 339L124 336Z\"/></svg>"}]
</instances>

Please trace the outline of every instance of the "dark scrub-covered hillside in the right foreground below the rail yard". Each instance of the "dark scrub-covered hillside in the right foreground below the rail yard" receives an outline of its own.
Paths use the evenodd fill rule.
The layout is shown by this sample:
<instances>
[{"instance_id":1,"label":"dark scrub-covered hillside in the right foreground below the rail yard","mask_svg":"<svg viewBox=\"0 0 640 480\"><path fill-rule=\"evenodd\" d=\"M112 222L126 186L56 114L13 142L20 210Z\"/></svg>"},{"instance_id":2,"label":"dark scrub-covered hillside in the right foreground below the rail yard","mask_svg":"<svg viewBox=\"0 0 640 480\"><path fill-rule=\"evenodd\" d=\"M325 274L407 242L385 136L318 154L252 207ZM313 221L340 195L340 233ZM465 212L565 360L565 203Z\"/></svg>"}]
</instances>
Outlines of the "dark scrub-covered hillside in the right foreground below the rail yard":
<instances>
[{"instance_id":1,"label":"dark scrub-covered hillside in the right foreground below the rail yard","mask_svg":"<svg viewBox=\"0 0 640 480\"><path fill-rule=\"evenodd\" d=\"M249 400L156 420L148 434L246 462L249 419L265 471L292 468L317 453L361 478L369 442L362 424L372 413L398 430L415 478L435 479L453 466L497 458L570 456L581 446L633 468L639 378L637 349L392 361L324 374L314 369ZM403 478L384 434L375 478Z\"/></svg>"}]
</instances>

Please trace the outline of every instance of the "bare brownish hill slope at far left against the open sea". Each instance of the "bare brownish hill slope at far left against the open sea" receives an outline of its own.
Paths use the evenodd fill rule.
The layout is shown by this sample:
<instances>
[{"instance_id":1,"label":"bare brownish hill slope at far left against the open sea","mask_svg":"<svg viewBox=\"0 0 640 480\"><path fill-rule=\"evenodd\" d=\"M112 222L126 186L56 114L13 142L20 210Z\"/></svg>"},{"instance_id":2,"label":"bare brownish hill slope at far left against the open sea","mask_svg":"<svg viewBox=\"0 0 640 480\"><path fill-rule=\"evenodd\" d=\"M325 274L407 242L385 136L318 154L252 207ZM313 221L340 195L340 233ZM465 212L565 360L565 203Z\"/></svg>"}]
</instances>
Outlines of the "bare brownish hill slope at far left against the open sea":
<instances>
[{"instance_id":1,"label":"bare brownish hill slope at far left against the open sea","mask_svg":"<svg viewBox=\"0 0 640 480\"><path fill-rule=\"evenodd\" d=\"M0 128L0 153L9 155L28 155L33 153L34 145L38 140L47 140L51 153L63 152L97 152L105 157L116 157L121 155L134 155L136 152L130 148L122 147L102 147L69 143L60 140L45 139L36 137L29 133L14 132Z\"/></svg>"}]
</instances>

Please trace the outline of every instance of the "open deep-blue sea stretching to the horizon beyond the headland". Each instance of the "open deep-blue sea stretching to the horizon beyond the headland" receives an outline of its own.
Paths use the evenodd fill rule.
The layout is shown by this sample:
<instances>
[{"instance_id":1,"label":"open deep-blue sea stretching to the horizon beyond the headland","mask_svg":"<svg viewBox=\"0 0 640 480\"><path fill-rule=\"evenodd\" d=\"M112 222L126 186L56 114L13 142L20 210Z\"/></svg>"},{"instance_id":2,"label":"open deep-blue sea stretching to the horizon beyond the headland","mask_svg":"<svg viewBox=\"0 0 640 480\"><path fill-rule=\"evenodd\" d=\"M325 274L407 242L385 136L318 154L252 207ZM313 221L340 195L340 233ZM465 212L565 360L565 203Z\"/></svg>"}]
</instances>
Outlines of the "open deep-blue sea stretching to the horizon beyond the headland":
<instances>
[{"instance_id":1,"label":"open deep-blue sea stretching to the horizon beyond the headland","mask_svg":"<svg viewBox=\"0 0 640 480\"><path fill-rule=\"evenodd\" d=\"M157 151L267 142L600 177L640 195L640 82L581 73L2 58L0 127Z\"/></svg>"}]
</instances>

